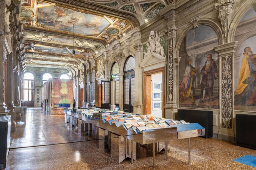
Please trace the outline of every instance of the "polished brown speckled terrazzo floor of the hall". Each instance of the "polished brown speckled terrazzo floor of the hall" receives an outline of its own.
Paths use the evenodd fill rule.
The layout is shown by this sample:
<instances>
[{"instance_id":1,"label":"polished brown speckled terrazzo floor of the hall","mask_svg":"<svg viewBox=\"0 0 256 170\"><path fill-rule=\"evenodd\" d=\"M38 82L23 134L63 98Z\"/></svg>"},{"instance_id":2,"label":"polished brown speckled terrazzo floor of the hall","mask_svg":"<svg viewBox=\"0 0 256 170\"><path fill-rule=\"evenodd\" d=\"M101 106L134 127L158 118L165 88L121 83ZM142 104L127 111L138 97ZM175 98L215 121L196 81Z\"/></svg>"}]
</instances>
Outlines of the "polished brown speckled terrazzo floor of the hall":
<instances>
[{"instance_id":1,"label":"polished brown speckled terrazzo floor of the hall","mask_svg":"<svg viewBox=\"0 0 256 170\"><path fill-rule=\"evenodd\" d=\"M45 116L40 109L29 109L26 124L21 125L15 133L11 134L12 142L14 142L12 146L25 147L10 150L6 170L256 169L232 161L245 155L256 156L256 150L235 146L232 143L214 138L196 137L191 139L191 165L187 163L188 140L170 141L168 161L165 161L164 153L160 152L156 155L156 167L153 168L152 157L140 158L133 164L130 164L130 160L127 159L118 164L109 155L97 149L94 140L82 141L86 138L69 130L68 126L64 125L63 116ZM80 142L65 143L79 140ZM50 145L38 146L44 144Z\"/></svg>"}]
</instances>

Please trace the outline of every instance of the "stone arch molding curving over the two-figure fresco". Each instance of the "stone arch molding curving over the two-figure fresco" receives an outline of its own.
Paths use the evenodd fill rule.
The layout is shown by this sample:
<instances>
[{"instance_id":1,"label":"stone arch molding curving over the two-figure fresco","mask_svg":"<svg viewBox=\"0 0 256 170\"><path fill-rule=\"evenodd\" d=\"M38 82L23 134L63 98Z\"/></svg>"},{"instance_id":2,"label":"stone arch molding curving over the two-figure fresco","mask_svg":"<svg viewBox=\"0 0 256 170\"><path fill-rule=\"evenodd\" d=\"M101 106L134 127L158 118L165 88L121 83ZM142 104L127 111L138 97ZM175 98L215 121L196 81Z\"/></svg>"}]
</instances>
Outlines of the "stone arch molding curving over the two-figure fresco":
<instances>
[{"instance_id":1,"label":"stone arch molding curving over the two-figure fresco","mask_svg":"<svg viewBox=\"0 0 256 170\"><path fill-rule=\"evenodd\" d=\"M207 25L207 26L210 26L211 28L213 28L213 30L216 32L216 34L217 34L217 36L218 36L219 45L224 43L222 30L221 30L221 28L219 27L219 25L217 25L213 20L208 19L208 18L207 18L207 19L204 18L204 19L201 19L201 20L198 21L198 25L199 25L199 26L200 26L200 25ZM183 39L185 38L185 36L187 35L187 33L188 33L191 29L193 29L193 25L192 25L191 23L188 23L188 24L186 24L186 25L184 25L184 26L182 26L182 27L185 27L186 29L183 30L183 31L181 30L181 32L180 32L179 28L177 29L177 30L178 30L177 35L179 34L179 35L182 35L182 36L178 37L178 40L176 41L175 55L174 55L174 56L176 56L176 57L179 56L180 45L181 45ZM183 32L184 34L181 34L182 32Z\"/></svg>"}]
</instances>

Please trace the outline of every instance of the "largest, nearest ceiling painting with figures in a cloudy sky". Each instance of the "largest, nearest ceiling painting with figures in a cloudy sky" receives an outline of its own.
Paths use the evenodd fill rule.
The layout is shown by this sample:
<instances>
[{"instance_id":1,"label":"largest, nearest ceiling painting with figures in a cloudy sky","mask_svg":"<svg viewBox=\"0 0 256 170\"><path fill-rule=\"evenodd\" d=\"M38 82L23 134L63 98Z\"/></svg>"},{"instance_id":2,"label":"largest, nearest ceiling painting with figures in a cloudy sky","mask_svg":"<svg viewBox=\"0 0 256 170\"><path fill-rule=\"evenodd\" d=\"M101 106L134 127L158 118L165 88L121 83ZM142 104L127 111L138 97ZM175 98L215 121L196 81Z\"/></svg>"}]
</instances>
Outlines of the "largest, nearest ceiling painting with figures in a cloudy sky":
<instances>
[{"instance_id":1,"label":"largest, nearest ceiling painting with figures in a cloudy sky","mask_svg":"<svg viewBox=\"0 0 256 170\"><path fill-rule=\"evenodd\" d=\"M38 8L37 23L54 30L93 35L102 32L110 23L101 16L76 12L59 6Z\"/></svg>"}]
</instances>

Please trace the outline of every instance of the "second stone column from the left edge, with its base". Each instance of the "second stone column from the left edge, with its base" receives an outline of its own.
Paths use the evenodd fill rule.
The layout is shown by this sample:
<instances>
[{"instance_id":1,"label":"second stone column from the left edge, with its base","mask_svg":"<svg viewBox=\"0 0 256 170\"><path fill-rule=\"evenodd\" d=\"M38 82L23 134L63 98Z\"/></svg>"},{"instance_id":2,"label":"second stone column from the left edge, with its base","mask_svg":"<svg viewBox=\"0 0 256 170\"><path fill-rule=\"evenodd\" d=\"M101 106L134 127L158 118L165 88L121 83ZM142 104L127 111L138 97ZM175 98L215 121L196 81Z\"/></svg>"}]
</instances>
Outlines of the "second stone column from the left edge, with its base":
<instances>
[{"instance_id":1,"label":"second stone column from the left edge, with its base","mask_svg":"<svg viewBox=\"0 0 256 170\"><path fill-rule=\"evenodd\" d=\"M15 131L16 122L14 120L20 119L21 115L18 115L17 118L15 117L15 107L13 104L13 52L10 53L7 57L7 71L7 109L10 110L8 115L11 115L11 131Z\"/></svg>"}]
</instances>

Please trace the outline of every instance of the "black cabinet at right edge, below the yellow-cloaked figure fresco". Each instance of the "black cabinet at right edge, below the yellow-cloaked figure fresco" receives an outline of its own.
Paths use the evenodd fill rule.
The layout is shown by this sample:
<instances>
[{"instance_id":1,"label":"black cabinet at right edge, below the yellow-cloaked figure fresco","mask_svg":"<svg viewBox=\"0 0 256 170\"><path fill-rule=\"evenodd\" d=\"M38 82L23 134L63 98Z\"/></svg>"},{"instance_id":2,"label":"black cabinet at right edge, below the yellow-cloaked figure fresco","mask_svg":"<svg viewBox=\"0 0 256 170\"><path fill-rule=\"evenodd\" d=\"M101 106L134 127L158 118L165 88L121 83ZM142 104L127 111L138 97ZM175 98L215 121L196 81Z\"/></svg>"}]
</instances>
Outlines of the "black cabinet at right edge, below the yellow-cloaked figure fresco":
<instances>
[{"instance_id":1,"label":"black cabinet at right edge, below the yellow-cloaked figure fresco","mask_svg":"<svg viewBox=\"0 0 256 170\"><path fill-rule=\"evenodd\" d=\"M236 115L236 145L256 149L256 115Z\"/></svg>"}]
</instances>

